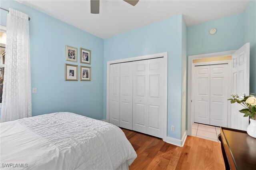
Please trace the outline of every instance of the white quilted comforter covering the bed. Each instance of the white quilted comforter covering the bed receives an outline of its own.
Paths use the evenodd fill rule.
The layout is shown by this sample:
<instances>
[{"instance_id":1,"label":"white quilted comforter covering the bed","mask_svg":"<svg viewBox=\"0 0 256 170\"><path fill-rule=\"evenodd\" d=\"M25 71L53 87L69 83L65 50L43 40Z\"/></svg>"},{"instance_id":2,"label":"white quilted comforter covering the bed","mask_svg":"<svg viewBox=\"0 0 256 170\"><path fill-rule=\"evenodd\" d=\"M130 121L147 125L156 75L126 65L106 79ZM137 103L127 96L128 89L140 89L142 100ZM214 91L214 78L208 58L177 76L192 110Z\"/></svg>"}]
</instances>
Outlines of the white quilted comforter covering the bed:
<instances>
[{"instance_id":1,"label":"white quilted comforter covering the bed","mask_svg":"<svg viewBox=\"0 0 256 170\"><path fill-rule=\"evenodd\" d=\"M74 113L0 123L0 128L0 169L115 170L137 157L120 128Z\"/></svg>"}]
</instances>

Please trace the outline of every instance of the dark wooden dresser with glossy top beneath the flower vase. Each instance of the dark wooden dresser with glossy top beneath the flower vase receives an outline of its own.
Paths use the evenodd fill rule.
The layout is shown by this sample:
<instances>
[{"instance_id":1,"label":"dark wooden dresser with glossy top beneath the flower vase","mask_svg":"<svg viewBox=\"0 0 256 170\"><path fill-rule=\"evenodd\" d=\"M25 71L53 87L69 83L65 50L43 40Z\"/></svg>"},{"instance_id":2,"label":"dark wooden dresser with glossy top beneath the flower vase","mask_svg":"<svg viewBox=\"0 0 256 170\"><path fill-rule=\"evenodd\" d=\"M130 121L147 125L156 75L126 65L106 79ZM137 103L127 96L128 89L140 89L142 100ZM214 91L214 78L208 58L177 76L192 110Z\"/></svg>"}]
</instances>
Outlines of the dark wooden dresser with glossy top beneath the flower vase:
<instances>
[{"instance_id":1,"label":"dark wooden dresser with glossy top beneath the flower vase","mask_svg":"<svg viewBox=\"0 0 256 170\"><path fill-rule=\"evenodd\" d=\"M226 169L256 170L256 138L244 130L220 127L219 140Z\"/></svg>"}]
</instances>

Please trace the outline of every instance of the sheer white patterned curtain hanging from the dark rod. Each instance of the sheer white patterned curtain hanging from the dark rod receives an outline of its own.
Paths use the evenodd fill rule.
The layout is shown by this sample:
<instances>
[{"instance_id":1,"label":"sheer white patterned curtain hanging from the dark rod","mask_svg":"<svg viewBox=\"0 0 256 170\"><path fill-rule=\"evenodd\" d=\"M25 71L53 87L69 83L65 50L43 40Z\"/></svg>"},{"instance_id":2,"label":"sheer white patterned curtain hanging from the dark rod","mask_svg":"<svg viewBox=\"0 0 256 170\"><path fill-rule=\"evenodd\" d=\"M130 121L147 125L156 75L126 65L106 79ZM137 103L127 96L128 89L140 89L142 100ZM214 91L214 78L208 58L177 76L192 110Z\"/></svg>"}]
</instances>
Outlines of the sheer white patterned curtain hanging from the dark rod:
<instances>
[{"instance_id":1,"label":"sheer white patterned curtain hanging from the dark rod","mask_svg":"<svg viewBox=\"0 0 256 170\"><path fill-rule=\"evenodd\" d=\"M1 122L32 116L28 15L9 9Z\"/></svg>"}]
</instances>

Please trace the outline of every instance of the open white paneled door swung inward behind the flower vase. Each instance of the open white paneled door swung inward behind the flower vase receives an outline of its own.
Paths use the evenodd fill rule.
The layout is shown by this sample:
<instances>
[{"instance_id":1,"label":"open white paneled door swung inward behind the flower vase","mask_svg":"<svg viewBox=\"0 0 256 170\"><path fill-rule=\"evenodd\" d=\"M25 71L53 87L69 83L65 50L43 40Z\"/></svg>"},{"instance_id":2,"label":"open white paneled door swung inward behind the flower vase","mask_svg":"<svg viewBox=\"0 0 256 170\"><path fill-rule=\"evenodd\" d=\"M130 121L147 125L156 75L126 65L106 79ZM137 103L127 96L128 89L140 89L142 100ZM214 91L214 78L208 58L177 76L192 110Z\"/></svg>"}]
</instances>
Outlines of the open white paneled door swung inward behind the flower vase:
<instances>
[{"instance_id":1,"label":"open white paneled door swung inward behind the flower vase","mask_svg":"<svg viewBox=\"0 0 256 170\"><path fill-rule=\"evenodd\" d=\"M232 55L232 94L246 93L249 95L250 43L246 43ZM238 103L231 105L231 128L246 130L248 117L239 110L243 109Z\"/></svg>"}]
</instances>

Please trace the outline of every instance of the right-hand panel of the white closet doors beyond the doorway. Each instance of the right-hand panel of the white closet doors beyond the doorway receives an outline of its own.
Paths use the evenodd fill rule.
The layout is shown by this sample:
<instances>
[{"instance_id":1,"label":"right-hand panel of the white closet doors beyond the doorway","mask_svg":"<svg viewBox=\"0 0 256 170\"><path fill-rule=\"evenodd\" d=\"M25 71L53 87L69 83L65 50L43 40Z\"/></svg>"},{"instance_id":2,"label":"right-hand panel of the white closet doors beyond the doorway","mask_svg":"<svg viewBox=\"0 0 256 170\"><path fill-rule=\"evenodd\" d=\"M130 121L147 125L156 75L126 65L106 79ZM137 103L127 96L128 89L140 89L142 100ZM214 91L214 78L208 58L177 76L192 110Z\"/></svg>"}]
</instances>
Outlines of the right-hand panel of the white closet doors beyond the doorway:
<instances>
[{"instance_id":1,"label":"right-hand panel of the white closet doors beyond the doorway","mask_svg":"<svg viewBox=\"0 0 256 170\"><path fill-rule=\"evenodd\" d=\"M210 125L228 126L228 65L210 66Z\"/></svg>"}]
</instances>

